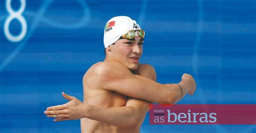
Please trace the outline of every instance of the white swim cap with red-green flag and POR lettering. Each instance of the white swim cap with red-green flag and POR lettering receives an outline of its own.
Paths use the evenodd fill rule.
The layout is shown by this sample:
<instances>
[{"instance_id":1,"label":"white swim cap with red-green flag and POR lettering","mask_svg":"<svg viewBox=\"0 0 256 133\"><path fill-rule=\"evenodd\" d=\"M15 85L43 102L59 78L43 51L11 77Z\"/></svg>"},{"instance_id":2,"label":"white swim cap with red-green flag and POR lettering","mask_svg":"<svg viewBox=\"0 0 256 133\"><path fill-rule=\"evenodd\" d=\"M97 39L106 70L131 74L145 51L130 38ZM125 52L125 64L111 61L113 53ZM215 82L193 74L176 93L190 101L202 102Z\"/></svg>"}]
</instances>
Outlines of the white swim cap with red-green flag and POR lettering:
<instances>
[{"instance_id":1,"label":"white swim cap with red-green flag and POR lettering","mask_svg":"<svg viewBox=\"0 0 256 133\"><path fill-rule=\"evenodd\" d=\"M132 29L141 29L135 20L127 16L117 16L107 21L104 29L104 46L112 45L120 36Z\"/></svg>"}]
</instances>

